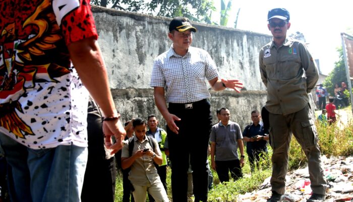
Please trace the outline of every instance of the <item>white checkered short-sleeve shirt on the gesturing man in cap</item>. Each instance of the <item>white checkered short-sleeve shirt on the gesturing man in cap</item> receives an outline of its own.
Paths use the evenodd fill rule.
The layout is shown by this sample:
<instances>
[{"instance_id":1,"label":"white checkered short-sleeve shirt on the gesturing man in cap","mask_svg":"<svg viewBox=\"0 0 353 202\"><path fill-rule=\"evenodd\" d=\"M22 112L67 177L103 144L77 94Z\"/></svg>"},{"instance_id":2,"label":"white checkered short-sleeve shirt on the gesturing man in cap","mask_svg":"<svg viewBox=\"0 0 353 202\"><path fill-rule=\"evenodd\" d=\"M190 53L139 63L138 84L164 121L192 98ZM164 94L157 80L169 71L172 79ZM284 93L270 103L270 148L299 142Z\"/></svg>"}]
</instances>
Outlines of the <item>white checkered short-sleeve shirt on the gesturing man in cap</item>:
<instances>
[{"instance_id":1,"label":"white checkered short-sleeve shirt on the gesturing man in cap","mask_svg":"<svg viewBox=\"0 0 353 202\"><path fill-rule=\"evenodd\" d=\"M206 51L190 46L185 56L179 56L171 45L154 60L150 85L165 88L167 103L193 103L211 96L205 78L216 77L216 64Z\"/></svg>"}]
</instances>

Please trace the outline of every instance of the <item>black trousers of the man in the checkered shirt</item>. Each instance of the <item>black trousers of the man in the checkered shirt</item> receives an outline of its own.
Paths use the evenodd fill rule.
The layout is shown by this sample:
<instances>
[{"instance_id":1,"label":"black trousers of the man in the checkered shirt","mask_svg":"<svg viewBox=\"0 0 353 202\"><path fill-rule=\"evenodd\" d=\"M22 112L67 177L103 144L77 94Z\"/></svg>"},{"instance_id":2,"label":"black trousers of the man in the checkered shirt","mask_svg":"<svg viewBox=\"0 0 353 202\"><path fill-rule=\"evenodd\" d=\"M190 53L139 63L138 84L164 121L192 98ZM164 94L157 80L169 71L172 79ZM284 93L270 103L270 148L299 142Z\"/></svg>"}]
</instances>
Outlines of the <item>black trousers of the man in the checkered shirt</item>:
<instances>
[{"instance_id":1,"label":"black trousers of the man in the checkered shirt","mask_svg":"<svg viewBox=\"0 0 353 202\"><path fill-rule=\"evenodd\" d=\"M171 192L173 201L188 201L189 159L193 170L195 201L207 201L208 173L206 167L212 117L207 99L185 109L184 104L169 103L169 113L178 116L175 121L179 134L167 127L169 159L171 161Z\"/></svg>"}]
</instances>

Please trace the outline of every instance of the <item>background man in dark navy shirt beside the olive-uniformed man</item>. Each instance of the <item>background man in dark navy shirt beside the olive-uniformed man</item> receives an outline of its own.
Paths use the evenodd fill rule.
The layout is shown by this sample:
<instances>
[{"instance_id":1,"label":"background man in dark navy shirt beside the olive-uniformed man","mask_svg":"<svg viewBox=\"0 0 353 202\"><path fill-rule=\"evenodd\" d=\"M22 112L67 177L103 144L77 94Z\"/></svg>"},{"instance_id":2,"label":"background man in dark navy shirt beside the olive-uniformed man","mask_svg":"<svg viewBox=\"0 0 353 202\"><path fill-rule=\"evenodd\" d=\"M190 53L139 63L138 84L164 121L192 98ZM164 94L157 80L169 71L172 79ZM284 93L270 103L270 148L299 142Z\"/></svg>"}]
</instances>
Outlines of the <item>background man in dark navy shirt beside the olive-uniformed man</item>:
<instances>
[{"instance_id":1,"label":"background man in dark navy shirt beside the olive-uniformed man","mask_svg":"<svg viewBox=\"0 0 353 202\"><path fill-rule=\"evenodd\" d=\"M264 124L260 122L261 115L259 111L251 112L251 120L253 123L247 125L243 131L243 139L247 141L247 154L251 172L255 170L255 165L259 168L258 162L260 156L267 154L267 141L269 136L264 131Z\"/></svg>"}]
</instances>

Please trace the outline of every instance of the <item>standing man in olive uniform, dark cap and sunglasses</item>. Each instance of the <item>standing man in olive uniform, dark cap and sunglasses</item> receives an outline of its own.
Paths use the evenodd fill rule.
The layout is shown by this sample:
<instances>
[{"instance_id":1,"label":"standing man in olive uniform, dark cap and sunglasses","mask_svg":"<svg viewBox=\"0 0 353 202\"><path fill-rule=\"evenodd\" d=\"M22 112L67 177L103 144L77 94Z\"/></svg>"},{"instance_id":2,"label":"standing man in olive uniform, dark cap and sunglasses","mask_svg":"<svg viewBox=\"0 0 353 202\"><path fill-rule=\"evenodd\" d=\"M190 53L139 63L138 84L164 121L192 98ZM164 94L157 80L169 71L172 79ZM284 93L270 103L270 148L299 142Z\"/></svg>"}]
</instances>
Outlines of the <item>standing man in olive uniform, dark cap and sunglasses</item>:
<instances>
[{"instance_id":1,"label":"standing man in olive uniform, dark cap and sunglasses","mask_svg":"<svg viewBox=\"0 0 353 202\"><path fill-rule=\"evenodd\" d=\"M320 165L321 153L308 97L319 78L318 70L307 47L286 38L290 27L287 10L270 10L267 27L273 41L263 46L259 54L261 78L267 87L265 108L269 112L273 149L272 196L267 201L277 201L284 194L292 133L308 158L313 194L307 201L323 201L326 181Z\"/></svg>"}]
</instances>

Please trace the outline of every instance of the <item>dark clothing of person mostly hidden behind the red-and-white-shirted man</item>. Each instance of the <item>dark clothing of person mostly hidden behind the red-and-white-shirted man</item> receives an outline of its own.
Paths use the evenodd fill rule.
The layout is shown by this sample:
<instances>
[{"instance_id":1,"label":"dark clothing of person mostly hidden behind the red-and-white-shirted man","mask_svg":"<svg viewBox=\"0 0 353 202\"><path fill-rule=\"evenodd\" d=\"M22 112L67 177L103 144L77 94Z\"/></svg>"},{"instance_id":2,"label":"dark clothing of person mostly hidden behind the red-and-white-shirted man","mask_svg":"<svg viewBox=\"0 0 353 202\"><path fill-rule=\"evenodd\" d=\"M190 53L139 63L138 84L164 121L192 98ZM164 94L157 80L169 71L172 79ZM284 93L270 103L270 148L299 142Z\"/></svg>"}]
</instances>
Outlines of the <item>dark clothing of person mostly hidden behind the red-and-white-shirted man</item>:
<instances>
[{"instance_id":1,"label":"dark clothing of person mostly hidden behind the red-and-white-shirted man","mask_svg":"<svg viewBox=\"0 0 353 202\"><path fill-rule=\"evenodd\" d=\"M114 201L115 159L106 159L101 114L92 99L88 103L87 122L88 161L81 200Z\"/></svg>"}]
</instances>

